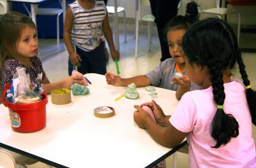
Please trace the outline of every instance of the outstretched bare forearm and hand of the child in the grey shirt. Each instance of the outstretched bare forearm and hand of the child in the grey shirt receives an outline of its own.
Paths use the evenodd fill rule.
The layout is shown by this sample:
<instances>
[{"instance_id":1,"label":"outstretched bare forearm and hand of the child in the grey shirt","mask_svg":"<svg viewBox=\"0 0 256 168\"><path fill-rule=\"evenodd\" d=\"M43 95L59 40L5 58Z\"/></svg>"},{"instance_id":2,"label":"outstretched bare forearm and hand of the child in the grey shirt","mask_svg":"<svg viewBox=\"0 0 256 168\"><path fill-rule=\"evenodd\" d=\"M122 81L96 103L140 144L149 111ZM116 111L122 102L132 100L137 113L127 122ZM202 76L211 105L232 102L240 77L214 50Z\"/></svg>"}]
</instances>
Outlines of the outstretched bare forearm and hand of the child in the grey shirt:
<instances>
[{"instance_id":1,"label":"outstretched bare forearm and hand of the child in the grey shirt","mask_svg":"<svg viewBox=\"0 0 256 168\"><path fill-rule=\"evenodd\" d=\"M105 76L108 85L113 85L115 87L127 87L131 83L134 83L136 87L147 87L151 85L151 81L145 75L134 76L132 78L121 78L116 74L106 73Z\"/></svg>"}]
</instances>

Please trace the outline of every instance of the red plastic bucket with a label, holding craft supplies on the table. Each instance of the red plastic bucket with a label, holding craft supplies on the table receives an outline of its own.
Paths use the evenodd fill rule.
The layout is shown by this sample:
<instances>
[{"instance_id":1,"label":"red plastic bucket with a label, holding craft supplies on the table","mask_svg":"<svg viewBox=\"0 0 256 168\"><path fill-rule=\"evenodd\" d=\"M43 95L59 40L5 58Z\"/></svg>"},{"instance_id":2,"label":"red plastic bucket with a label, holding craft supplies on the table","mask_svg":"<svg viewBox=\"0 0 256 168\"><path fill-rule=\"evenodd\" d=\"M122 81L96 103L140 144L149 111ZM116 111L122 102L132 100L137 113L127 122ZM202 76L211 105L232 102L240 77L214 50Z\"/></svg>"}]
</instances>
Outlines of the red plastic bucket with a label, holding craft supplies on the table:
<instances>
[{"instance_id":1,"label":"red plastic bucket with a label, holding craft supplies on the table","mask_svg":"<svg viewBox=\"0 0 256 168\"><path fill-rule=\"evenodd\" d=\"M47 95L44 94L44 99L40 102L15 104L9 102L7 98L4 100L4 95L10 87L11 84L4 86L0 98L4 106L9 108L12 129L17 132L35 132L36 130L44 129L46 125Z\"/></svg>"}]
</instances>

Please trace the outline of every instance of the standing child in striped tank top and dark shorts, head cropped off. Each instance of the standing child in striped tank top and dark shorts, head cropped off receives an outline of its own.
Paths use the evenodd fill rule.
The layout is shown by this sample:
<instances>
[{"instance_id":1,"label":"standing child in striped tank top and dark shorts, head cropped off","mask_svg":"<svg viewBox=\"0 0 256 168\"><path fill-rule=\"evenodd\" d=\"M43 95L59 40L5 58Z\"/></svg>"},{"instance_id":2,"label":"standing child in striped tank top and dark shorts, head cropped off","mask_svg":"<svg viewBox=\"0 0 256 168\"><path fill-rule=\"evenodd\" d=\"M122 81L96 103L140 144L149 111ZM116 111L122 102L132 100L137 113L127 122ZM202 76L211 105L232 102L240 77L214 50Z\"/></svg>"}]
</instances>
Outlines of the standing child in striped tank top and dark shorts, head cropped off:
<instances>
[{"instance_id":1,"label":"standing child in striped tank top and dark shorts, head cropped off","mask_svg":"<svg viewBox=\"0 0 256 168\"><path fill-rule=\"evenodd\" d=\"M105 37L112 59L120 58L115 50L104 1L77 0L68 5L64 41L69 53L68 74L74 66L82 74L106 73Z\"/></svg>"}]
</instances>

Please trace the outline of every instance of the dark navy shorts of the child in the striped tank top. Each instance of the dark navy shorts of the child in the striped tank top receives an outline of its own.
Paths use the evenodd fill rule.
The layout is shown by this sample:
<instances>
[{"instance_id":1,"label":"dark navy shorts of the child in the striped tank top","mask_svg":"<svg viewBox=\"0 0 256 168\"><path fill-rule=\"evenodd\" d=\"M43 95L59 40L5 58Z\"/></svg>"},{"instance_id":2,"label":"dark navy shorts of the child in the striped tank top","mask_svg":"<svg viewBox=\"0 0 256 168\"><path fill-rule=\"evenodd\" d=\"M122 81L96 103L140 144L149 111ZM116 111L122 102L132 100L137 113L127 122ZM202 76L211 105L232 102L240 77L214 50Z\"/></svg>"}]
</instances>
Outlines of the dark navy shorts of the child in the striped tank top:
<instances>
[{"instance_id":1,"label":"dark navy shorts of the child in the striped tank top","mask_svg":"<svg viewBox=\"0 0 256 168\"><path fill-rule=\"evenodd\" d=\"M76 47L76 53L81 57L81 66L77 67L77 71L82 74L97 73L106 74L106 56L104 50L104 43L101 43L97 48L91 52L85 52ZM68 74L71 76L74 69L70 59L68 59Z\"/></svg>"}]
</instances>

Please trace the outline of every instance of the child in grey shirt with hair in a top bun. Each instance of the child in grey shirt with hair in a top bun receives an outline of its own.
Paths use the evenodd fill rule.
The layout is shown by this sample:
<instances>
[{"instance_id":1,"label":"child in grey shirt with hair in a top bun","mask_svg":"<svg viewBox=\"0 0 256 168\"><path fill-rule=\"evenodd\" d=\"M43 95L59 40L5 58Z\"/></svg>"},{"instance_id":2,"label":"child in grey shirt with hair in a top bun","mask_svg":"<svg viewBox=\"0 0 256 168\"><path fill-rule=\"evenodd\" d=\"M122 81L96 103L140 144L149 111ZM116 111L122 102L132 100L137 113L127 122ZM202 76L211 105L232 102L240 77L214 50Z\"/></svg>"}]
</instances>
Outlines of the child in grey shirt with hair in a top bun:
<instances>
[{"instance_id":1,"label":"child in grey shirt with hair in a top bun","mask_svg":"<svg viewBox=\"0 0 256 168\"><path fill-rule=\"evenodd\" d=\"M177 99L180 99L182 94L189 91L189 89L198 89L198 86L194 85L194 83L190 83L187 76L183 76L182 80L174 77L175 73L185 73L185 62L182 57L183 52L180 44L188 27L197 20L197 4L195 2L188 3L186 16L176 16L166 25L166 37L172 58L164 60L159 66L147 74L134 76L132 78L121 78L118 75L106 73L105 76L108 84L116 87L127 87L129 84L135 83L137 87L153 85L170 90L177 90ZM173 82L173 78L175 82Z\"/></svg>"}]
</instances>

